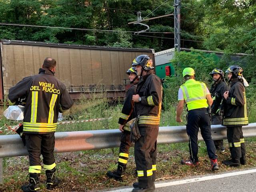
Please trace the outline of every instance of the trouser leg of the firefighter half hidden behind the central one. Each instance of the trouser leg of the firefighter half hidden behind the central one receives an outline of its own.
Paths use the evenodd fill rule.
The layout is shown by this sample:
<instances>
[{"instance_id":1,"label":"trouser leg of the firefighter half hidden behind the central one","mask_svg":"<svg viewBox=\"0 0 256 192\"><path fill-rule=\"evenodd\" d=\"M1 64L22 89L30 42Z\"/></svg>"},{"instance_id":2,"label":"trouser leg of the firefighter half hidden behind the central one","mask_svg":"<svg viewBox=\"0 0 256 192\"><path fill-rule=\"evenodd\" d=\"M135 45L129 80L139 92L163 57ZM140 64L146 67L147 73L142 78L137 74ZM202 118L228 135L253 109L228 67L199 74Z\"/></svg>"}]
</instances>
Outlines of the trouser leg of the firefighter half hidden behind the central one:
<instances>
[{"instance_id":1,"label":"trouser leg of the firefighter half hidden behind the central one","mask_svg":"<svg viewBox=\"0 0 256 192\"><path fill-rule=\"evenodd\" d=\"M120 142L118 164L122 165L123 168L126 168L131 146L130 131L124 130L122 132Z\"/></svg>"}]
</instances>

